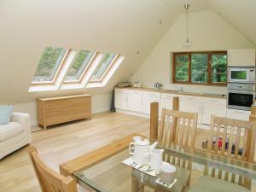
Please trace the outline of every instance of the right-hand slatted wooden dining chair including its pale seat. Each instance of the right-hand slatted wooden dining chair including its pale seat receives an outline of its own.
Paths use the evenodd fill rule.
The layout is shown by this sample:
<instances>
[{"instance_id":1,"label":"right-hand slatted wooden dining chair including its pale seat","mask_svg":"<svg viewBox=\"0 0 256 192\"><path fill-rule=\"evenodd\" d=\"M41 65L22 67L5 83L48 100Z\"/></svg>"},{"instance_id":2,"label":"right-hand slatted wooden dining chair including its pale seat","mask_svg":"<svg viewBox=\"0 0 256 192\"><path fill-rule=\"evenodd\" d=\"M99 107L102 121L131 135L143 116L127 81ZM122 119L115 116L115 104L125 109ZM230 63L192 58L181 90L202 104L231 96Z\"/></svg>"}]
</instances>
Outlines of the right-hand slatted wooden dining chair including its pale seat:
<instances>
[{"instance_id":1,"label":"right-hand slatted wooden dining chair including its pale seat","mask_svg":"<svg viewBox=\"0 0 256 192\"><path fill-rule=\"evenodd\" d=\"M253 162L256 140L255 129L256 122L212 116L212 136L208 139L207 152L218 154L218 156L230 160ZM202 184L204 186L208 184L208 189L212 189L208 191L212 192L218 191L218 189L227 192L242 192L251 189L250 178L223 171L216 167L205 166L204 175L189 189L189 192L201 191Z\"/></svg>"}]
</instances>

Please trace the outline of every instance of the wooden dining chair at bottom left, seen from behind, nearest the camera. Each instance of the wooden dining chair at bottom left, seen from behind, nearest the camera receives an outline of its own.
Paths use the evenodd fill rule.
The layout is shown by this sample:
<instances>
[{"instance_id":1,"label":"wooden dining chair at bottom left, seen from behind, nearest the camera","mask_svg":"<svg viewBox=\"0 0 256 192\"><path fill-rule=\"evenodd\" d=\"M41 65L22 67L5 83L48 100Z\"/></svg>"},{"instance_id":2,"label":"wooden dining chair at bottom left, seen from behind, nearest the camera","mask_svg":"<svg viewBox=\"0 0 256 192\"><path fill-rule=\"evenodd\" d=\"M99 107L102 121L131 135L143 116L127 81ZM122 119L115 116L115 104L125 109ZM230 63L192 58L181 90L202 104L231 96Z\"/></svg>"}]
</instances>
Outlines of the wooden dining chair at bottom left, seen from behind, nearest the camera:
<instances>
[{"instance_id":1,"label":"wooden dining chair at bottom left, seen from behind, nearest the camera","mask_svg":"<svg viewBox=\"0 0 256 192\"><path fill-rule=\"evenodd\" d=\"M35 147L28 148L28 154L43 192L78 192L73 177L64 177L51 170L40 160Z\"/></svg>"}]
</instances>

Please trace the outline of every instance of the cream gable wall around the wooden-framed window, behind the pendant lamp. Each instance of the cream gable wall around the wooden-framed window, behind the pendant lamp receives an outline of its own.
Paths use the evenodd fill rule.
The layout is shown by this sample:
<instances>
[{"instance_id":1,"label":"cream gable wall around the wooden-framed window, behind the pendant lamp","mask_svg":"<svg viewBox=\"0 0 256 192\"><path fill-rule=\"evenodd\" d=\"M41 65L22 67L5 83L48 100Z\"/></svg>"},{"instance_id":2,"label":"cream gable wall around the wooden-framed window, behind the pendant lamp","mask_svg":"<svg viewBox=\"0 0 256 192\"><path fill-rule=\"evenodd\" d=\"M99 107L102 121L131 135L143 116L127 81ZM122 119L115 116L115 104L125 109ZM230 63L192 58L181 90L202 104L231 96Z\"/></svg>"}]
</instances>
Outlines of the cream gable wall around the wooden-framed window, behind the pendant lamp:
<instances>
[{"instance_id":1,"label":"cream gable wall around the wooden-framed window, behind the pendant lamp","mask_svg":"<svg viewBox=\"0 0 256 192\"><path fill-rule=\"evenodd\" d=\"M177 89L171 83L172 52L196 50L226 50L253 48L230 24L212 11L189 14L189 39L192 46L183 46L186 38L185 16L181 15L165 36L154 47L147 59L131 77L131 81L142 81L143 86L153 87L154 82L164 84L165 89ZM225 93L226 87L184 85L185 91Z\"/></svg>"}]
</instances>

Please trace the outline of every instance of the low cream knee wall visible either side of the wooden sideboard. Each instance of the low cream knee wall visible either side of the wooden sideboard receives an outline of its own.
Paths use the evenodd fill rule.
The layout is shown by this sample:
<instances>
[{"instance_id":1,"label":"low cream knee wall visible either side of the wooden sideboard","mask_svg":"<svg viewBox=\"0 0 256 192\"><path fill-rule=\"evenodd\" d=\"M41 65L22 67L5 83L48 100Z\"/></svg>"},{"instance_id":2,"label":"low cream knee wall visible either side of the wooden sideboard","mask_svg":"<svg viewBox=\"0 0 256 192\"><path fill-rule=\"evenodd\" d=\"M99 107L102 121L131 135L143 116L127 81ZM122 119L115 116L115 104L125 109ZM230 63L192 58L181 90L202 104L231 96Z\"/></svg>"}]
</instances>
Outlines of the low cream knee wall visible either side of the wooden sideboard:
<instances>
[{"instance_id":1,"label":"low cream knee wall visible either side of the wooden sideboard","mask_svg":"<svg viewBox=\"0 0 256 192\"><path fill-rule=\"evenodd\" d=\"M111 105L111 94L91 96L92 113L109 111ZM26 102L15 104L15 112L29 113L32 125L38 125L37 102Z\"/></svg>"}]
</instances>

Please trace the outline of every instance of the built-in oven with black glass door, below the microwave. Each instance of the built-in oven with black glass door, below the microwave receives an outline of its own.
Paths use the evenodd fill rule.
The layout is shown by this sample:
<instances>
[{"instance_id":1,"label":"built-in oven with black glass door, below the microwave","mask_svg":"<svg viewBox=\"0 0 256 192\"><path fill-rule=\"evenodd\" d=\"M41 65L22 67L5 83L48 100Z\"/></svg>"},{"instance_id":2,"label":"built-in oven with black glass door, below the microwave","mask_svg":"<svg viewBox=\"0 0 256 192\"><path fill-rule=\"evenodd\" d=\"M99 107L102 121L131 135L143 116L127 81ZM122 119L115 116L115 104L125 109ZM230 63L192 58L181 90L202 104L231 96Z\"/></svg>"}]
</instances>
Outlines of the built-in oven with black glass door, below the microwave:
<instances>
[{"instance_id":1,"label":"built-in oven with black glass door, below the microwave","mask_svg":"<svg viewBox=\"0 0 256 192\"><path fill-rule=\"evenodd\" d=\"M249 111L254 98L255 84L228 84L228 108Z\"/></svg>"}]
</instances>

